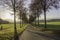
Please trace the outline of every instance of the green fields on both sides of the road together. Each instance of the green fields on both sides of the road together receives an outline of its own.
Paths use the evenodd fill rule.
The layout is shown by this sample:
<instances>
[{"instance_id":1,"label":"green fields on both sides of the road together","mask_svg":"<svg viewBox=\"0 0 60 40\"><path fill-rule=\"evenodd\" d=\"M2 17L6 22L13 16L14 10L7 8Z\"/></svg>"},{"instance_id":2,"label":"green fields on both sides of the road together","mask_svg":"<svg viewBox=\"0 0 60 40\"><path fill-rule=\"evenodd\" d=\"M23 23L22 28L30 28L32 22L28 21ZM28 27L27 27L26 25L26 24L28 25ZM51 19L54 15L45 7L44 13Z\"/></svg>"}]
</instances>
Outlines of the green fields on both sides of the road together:
<instances>
[{"instance_id":1,"label":"green fields on both sides of the road together","mask_svg":"<svg viewBox=\"0 0 60 40\"><path fill-rule=\"evenodd\" d=\"M35 24L35 23L34 23ZM2 26L2 30L1 30ZM12 40L14 36L14 25L13 24L1 24L0 26L0 40ZM18 34L21 33L25 28L26 24L20 25L17 24L17 32ZM44 28L44 22L40 22L39 26L36 23L34 26L35 30L41 30ZM60 22L47 22L47 32L60 34Z\"/></svg>"}]
</instances>

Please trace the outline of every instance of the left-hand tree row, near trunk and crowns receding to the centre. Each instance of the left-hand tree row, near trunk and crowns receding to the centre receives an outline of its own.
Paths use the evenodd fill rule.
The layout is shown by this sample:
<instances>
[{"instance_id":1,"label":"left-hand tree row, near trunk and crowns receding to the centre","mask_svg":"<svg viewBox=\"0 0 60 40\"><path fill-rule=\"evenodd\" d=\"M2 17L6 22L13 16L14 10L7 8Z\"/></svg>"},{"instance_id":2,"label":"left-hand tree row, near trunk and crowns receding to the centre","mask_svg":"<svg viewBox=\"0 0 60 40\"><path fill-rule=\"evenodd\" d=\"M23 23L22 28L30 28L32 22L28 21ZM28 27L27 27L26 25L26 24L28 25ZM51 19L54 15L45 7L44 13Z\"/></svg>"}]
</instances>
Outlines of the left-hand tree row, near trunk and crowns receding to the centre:
<instances>
[{"instance_id":1,"label":"left-hand tree row, near trunk and crowns receding to the centre","mask_svg":"<svg viewBox=\"0 0 60 40\"><path fill-rule=\"evenodd\" d=\"M3 6L8 7L7 9L13 12L14 15L14 40L18 40L17 28L16 28L16 14L19 19L27 23L26 8L23 7L25 0L1 0Z\"/></svg>"}]
</instances>

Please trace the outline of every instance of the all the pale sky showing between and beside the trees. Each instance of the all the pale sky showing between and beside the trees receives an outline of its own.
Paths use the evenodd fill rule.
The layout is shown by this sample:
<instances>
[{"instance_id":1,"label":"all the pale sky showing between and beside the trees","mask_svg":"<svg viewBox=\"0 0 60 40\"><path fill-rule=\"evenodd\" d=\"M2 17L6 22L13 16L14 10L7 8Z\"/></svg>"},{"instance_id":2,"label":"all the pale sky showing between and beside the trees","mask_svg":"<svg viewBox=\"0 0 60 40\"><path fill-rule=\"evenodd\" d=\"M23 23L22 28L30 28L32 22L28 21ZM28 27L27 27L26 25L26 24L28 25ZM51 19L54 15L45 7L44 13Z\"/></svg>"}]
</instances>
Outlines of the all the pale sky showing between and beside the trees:
<instances>
[{"instance_id":1,"label":"all the pale sky showing between and beside the trees","mask_svg":"<svg viewBox=\"0 0 60 40\"><path fill-rule=\"evenodd\" d=\"M28 7L30 0L27 0L26 2L26 7ZM4 20L9 20L9 21L13 21L14 20L14 15L10 14L11 11L7 10L6 7L3 7L2 5L0 5L0 18L4 19ZM47 20L50 19L60 19L60 8L59 9L51 9L49 10L49 12L47 12ZM40 20L44 19L44 15L41 14L40 16ZM18 20L18 19L16 19Z\"/></svg>"}]
</instances>

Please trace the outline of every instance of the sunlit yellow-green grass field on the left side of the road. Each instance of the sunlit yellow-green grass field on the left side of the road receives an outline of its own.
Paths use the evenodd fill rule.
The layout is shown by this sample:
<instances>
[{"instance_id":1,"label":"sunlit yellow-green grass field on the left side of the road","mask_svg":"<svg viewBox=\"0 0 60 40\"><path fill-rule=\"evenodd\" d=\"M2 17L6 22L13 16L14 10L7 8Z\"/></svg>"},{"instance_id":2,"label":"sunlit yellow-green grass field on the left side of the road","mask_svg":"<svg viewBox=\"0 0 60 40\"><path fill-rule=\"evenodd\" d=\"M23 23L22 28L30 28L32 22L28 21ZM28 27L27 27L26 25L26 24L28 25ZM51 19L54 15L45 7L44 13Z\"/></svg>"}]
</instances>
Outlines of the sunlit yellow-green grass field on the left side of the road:
<instances>
[{"instance_id":1,"label":"sunlit yellow-green grass field on the left side of the road","mask_svg":"<svg viewBox=\"0 0 60 40\"><path fill-rule=\"evenodd\" d=\"M1 30L2 26L2 30ZM14 24L1 24L0 26L0 40L12 40L14 36ZM17 32L21 33L25 28L26 24L17 24Z\"/></svg>"}]
</instances>

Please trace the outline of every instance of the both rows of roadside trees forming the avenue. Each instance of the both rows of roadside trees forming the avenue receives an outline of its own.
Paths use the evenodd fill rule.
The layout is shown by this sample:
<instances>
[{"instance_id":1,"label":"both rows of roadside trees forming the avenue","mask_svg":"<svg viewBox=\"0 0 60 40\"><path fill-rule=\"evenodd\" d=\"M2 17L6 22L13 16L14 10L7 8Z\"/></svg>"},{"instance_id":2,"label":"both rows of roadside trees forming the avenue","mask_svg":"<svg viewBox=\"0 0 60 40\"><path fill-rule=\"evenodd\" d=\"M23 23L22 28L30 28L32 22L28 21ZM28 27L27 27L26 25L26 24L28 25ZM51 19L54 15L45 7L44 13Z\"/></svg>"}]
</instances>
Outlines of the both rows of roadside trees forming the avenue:
<instances>
[{"instance_id":1,"label":"both rows of roadside trees forming the avenue","mask_svg":"<svg viewBox=\"0 0 60 40\"><path fill-rule=\"evenodd\" d=\"M3 2L3 6L7 6L10 11L14 14L14 40L18 40L17 28L16 28L16 15L18 18L25 23L32 23L36 18L39 20L39 16L44 12L44 21L46 28L46 12L54 8L59 8L58 4L60 0L31 0L29 6L29 19L27 17L27 8L25 8L24 2L27 0L0 0ZM38 22L39 24L39 22Z\"/></svg>"}]
</instances>

